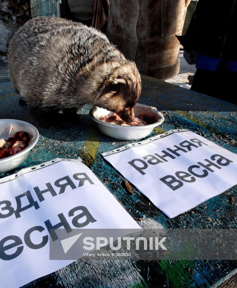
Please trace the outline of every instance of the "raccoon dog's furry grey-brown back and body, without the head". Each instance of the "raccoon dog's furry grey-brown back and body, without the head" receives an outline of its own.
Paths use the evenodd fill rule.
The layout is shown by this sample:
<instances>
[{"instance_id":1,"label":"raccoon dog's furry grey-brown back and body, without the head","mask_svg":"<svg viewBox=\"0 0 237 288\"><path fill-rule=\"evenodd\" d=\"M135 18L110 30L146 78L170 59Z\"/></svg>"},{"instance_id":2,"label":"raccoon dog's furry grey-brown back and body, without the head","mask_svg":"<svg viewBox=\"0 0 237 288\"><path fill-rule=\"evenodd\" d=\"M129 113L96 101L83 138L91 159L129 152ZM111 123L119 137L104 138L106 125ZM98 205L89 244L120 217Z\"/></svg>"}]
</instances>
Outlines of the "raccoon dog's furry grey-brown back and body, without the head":
<instances>
[{"instance_id":1,"label":"raccoon dog's furry grey-brown back and body, without the head","mask_svg":"<svg viewBox=\"0 0 237 288\"><path fill-rule=\"evenodd\" d=\"M104 34L56 17L33 18L22 26L10 42L8 60L14 88L42 111L90 103L78 89L91 81L93 71L101 63L127 61Z\"/></svg>"}]
</instances>

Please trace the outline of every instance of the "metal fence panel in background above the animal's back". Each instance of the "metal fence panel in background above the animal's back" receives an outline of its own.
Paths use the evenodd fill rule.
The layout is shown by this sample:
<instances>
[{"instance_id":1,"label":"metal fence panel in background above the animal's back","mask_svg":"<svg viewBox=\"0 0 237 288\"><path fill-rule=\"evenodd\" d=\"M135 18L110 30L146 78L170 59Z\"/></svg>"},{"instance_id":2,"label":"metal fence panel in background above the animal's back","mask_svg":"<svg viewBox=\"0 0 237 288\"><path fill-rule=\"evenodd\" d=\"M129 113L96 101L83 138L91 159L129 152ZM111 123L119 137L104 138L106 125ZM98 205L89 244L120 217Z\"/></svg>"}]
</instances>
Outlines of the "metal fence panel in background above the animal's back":
<instances>
[{"instance_id":1,"label":"metal fence panel in background above the animal's back","mask_svg":"<svg viewBox=\"0 0 237 288\"><path fill-rule=\"evenodd\" d=\"M30 0L31 16L57 16L60 17L59 0Z\"/></svg>"}]
</instances>

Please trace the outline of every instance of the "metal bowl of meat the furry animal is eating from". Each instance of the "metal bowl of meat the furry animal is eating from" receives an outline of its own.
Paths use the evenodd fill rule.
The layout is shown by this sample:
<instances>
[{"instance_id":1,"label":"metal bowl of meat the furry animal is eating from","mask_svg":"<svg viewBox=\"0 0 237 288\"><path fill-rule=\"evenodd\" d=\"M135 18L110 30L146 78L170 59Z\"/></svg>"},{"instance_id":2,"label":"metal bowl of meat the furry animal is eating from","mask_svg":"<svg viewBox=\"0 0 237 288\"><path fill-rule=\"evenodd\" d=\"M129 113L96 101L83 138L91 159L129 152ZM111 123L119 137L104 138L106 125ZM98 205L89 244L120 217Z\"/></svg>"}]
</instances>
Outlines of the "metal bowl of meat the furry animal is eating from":
<instances>
[{"instance_id":1,"label":"metal bowl of meat the furry animal is eating from","mask_svg":"<svg viewBox=\"0 0 237 288\"><path fill-rule=\"evenodd\" d=\"M139 115L149 115L155 119L155 123L148 124L145 126L120 126L109 124L99 120L101 116L108 115L112 113L104 108L94 107L90 111L91 119L94 120L99 128L99 130L116 139L121 140L136 140L148 136L154 127L159 126L164 121L164 116L155 107L146 106L143 104L136 103L134 107L135 117Z\"/></svg>"}]
</instances>

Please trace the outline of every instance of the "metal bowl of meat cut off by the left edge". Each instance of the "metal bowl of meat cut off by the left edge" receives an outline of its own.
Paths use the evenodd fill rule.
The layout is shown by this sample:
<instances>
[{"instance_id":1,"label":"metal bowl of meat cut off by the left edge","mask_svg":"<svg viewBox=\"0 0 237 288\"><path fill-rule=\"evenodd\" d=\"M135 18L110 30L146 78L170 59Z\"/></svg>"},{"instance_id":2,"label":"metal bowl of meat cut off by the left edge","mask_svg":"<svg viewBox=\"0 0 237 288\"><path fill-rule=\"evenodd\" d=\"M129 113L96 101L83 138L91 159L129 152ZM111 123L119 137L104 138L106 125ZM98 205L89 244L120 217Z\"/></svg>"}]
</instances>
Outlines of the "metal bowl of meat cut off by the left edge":
<instances>
[{"instance_id":1,"label":"metal bowl of meat cut off by the left edge","mask_svg":"<svg viewBox=\"0 0 237 288\"><path fill-rule=\"evenodd\" d=\"M31 137L31 143L22 151L16 153L15 155L0 159L0 172L5 172L12 170L19 166L30 153L30 150L35 146L39 139L39 132L35 128L35 126L21 120L14 120L14 119L0 119L0 135L13 126L14 132L18 131L25 131ZM5 137L0 137L0 139L5 139Z\"/></svg>"}]
</instances>

